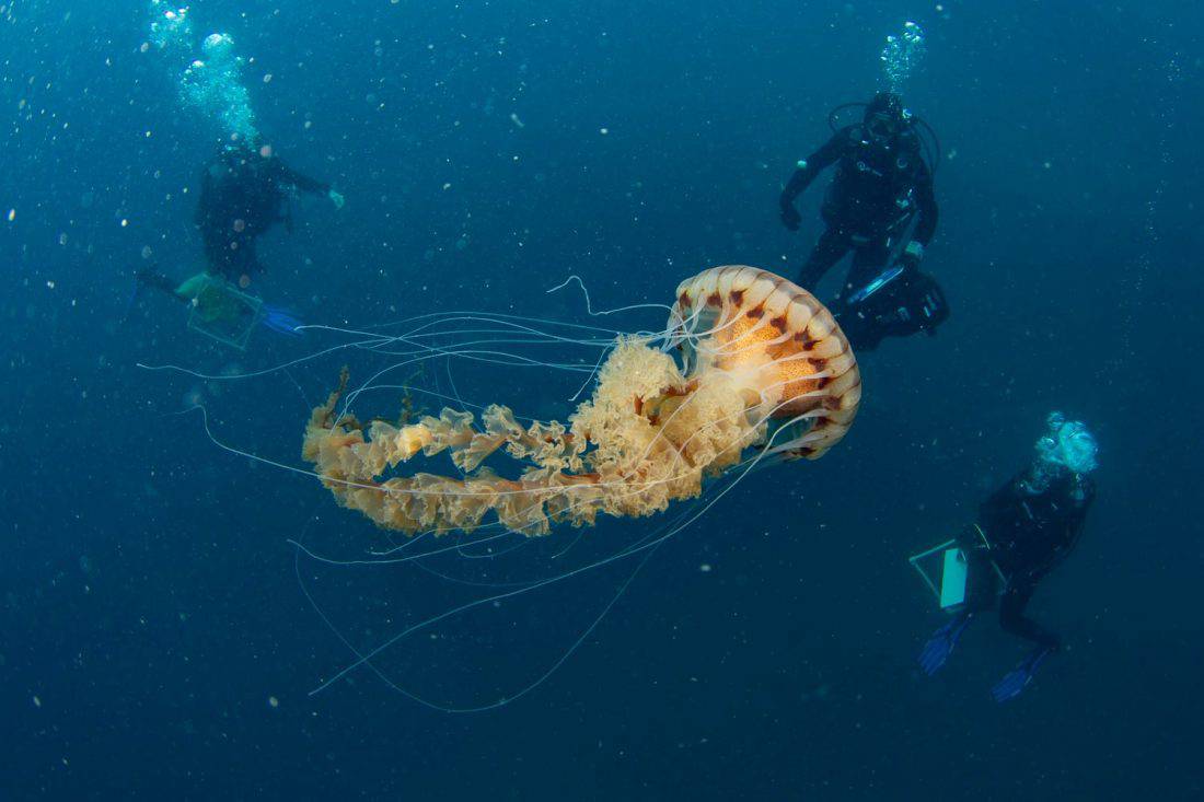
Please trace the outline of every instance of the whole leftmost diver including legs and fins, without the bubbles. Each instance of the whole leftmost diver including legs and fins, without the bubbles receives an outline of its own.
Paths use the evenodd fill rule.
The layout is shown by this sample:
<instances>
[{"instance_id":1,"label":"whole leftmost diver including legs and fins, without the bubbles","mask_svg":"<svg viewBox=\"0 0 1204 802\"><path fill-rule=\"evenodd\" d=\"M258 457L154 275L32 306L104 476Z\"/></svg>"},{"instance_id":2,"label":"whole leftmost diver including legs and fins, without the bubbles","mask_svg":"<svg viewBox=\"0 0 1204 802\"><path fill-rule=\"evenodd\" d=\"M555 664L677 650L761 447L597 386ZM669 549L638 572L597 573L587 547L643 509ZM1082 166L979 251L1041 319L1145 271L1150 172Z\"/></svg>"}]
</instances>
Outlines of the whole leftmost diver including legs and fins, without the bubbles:
<instances>
[{"instance_id":1,"label":"whole leftmost diver including legs and fins, without the bubbles","mask_svg":"<svg viewBox=\"0 0 1204 802\"><path fill-rule=\"evenodd\" d=\"M136 273L138 287L189 305L189 328L236 348L246 347L255 324L297 334L301 324L288 311L238 289L262 271L255 238L281 220L291 229L288 200L296 191L324 194L335 208L343 207L343 196L330 184L291 170L266 148L223 147L205 169L196 206L206 271L176 282L155 267L146 267ZM137 291L131 306L136 297Z\"/></svg>"}]
</instances>

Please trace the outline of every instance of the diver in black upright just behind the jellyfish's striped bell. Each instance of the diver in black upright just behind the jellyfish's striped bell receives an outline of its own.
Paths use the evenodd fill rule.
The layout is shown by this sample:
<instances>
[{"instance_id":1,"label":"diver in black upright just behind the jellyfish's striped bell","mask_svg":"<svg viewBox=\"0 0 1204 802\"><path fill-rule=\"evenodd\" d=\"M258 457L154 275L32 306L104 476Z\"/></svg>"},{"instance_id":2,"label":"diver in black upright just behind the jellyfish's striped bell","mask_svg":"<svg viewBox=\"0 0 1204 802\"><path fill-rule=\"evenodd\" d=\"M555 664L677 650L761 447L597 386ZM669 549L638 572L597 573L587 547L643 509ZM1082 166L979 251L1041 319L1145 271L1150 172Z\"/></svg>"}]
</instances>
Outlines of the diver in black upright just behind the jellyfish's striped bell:
<instances>
[{"instance_id":1,"label":"diver in black upright just behind the jellyfish's striped bell","mask_svg":"<svg viewBox=\"0 0 1204 802\"><path fill-rule=\"evenodd\" d=\"M837 128L844 108L864 106L862 122ZM831 165L836 177L824 199L826 230L803 265L798 284L814 290L820 278L852 250L852 266L831 305L856 350L883 337L934 334L949 317L944 294L920 260L937 231L932 178L939 143L932 129L883 92L868 104L844 104L828 114L832 138L798 163L779 199L781 222L797 231L795 200ZM921 137L927 131L932 148Z\"/></svg>"}]
</instances>

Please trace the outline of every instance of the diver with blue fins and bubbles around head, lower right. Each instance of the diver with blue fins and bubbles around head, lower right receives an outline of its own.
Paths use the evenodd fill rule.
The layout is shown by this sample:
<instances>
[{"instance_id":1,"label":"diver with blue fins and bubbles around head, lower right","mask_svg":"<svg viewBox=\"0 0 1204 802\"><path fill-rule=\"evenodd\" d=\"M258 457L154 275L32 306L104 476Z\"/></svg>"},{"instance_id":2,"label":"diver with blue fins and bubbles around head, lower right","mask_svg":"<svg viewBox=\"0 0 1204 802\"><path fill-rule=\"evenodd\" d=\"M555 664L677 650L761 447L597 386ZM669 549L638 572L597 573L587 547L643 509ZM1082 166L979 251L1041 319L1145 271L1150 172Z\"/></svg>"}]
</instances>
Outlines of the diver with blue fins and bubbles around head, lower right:
<instances>
[{"instance_id":1,"label":"diver with blue fins and bubbles around head, lower right","mask_svg":"<svg viewBox=\"0 0 1204 802\"><path fill-rule=\"evenodd\" d=\"M966 566L961 574L964 603L920 654L921 667L932 676L945 665L970 620L998 601L999 626L1031 642L1033 649L995 685L997 702L1017 696L1061 645L1057 635L1025 615L1025 607L1038 583L1079 542L1096 497L1088 474L1096 470L1098 447L1087 426L1057 412L1046 425L1032 465L984 501L978 524L957 538Z\"/></svg>"}]
</instances>

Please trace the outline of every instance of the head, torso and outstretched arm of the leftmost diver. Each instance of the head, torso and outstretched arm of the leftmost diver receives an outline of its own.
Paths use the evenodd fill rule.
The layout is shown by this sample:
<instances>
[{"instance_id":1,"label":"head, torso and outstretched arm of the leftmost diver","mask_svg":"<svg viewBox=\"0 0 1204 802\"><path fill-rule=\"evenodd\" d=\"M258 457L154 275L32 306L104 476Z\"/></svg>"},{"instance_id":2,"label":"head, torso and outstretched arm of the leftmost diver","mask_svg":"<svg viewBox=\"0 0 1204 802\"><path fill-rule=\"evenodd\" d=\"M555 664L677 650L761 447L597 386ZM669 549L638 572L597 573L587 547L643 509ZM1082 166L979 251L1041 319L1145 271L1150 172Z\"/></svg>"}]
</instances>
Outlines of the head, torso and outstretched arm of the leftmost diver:
<instances>
[{"instance_id":1,"label":"head, torso and outstretched arm of the leftmost diver","mask_svg":"<svg viewBox=\"0 0 1204 802\"><path fill-rule=\"evenodd\" d=\"M336 208L343 206L343 196L330 184L291 170L273 155L224 147L205 169L196 206L209 272L237 282L262 271L255 240L281 220L291 228L287 204L294 191L326 195Z\"/></svg>"}]
</instances>

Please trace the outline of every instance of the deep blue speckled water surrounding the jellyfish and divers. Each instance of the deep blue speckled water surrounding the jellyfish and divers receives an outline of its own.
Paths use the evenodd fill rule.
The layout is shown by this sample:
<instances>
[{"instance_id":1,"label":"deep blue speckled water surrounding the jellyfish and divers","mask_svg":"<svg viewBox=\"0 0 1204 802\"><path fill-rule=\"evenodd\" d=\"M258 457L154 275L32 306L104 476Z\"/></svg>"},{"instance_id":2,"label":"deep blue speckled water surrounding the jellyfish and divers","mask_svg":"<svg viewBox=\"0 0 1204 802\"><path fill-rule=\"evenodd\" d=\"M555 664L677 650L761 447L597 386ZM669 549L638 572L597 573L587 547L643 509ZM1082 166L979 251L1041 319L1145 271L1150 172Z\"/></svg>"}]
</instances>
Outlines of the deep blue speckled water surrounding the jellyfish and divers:
<instances>
[{"instance_id":1,"label":"deep blue speckled water surrounding the jellyfish and divers","mask_svg":"<svg viewBox=\"0 0 1204 802\"><path fill-rule=\"evenodd\" d=\"M1197 4L190 13L194 39L228 31L254 57L276 152L348 199L299 204L294 232L261 243L253 289L352 326L452 309L591 323L579 294L544 291L571 273L598 308L668 302L716 264L792 275L822 190L791 235L780 184L916 19L928 53L907 100L946 154L925 264L954 314L866 355L849 437L722 496L531 694L448 714L361 670L311 696L353 657L306 590L364 647L464 589L299 558L289 539L342 558L380 539L182 411L200 400L216 437L297 465L338 366L380 362L224 382L140 368L246 373L327 341L260 332L243 354L166 300L126 314L144 248L173 275L201 264L211 138L161 54L141 52L147 5L0 0L0 798L1199 798ZM576 387L427 371L415 381L537 415L566 414ZM397 405L378 394L366 414ZM1054 408L1094 426L1099 499L1031 608L1068 648L996 706L1022 647L980 625L922 677L940 617L905 558L1023 465ZM513 692L632 567L462 617L382 668L443 703Z\"/></svg>"}]
</instances>

